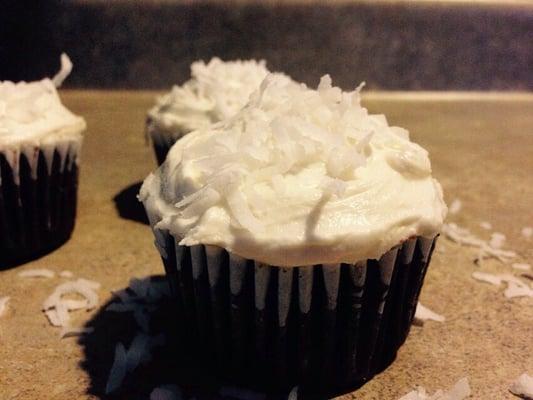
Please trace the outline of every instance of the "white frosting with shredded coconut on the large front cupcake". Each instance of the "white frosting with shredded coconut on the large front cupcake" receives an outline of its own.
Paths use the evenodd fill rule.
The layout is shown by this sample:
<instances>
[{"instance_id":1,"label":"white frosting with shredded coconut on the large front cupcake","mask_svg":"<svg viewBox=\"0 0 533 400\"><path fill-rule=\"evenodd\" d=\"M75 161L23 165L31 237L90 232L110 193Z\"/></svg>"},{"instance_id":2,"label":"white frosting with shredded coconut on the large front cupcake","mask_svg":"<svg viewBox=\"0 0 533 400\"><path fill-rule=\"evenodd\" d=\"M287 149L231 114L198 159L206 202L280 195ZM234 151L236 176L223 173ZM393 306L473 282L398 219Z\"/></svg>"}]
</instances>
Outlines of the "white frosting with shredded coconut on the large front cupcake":
<instances>
[{"instance_id":1,"label":"white frosting with shredded coconut on the large front cupcake","mask_svg":"<svg viewBox=\"0 0 533 400\"><path fill-rule=\"evenodd\" d=\"M140 199L156 231L269 265L355 263L435 236L447 212L428 153L328 75L268 76L234 117L179 140Z\"/></svg>"}]
</instances>

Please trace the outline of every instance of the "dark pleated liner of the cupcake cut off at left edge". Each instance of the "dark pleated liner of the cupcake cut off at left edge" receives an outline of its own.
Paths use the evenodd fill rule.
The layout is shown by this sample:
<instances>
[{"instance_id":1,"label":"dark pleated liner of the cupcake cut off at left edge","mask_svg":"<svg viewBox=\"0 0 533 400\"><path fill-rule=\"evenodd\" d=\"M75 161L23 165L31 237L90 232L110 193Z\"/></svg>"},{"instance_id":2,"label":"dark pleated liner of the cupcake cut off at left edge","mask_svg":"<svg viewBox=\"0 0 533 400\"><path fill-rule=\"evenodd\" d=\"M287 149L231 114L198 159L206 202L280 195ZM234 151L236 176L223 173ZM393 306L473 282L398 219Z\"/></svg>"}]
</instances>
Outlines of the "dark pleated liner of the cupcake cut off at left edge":
<instances>
[{"instance_id":1,"label":"dark pleated liner of the cupcake cut off at left edge","mask_svg":"<svg viewBox=\"0 0 533 400\"><path fill-rule=\"evenodd\" d=\"M33 160L21 152L11 162L0 152L0 269L43 255L69 239L78 187L73 150L54 149L49 165L39 149Z\"/></svg>"}]
</instances>

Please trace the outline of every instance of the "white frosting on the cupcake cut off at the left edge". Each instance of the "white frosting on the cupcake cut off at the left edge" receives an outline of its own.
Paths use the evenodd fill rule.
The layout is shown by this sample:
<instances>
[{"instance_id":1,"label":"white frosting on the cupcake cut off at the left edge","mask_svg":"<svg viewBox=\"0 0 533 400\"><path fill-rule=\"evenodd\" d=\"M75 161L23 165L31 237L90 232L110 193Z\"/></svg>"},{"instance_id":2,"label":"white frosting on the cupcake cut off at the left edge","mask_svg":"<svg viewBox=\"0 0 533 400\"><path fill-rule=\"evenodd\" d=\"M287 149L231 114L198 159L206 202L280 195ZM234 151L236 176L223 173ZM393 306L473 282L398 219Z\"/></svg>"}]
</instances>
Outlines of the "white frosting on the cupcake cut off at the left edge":
<instances>
[{"instance_id":1,"label":"white frosting on the cupcake cut off at the left edge","mask_svg":"<svg viewBox=\"0 0 533 400\"><path fill-rule=\"evenodd\" d=\"M68 155L71 163L77 160L85 121L61 104L56 90L71 69L70 60L62 54L61 71L52 79L0 82L0 152L13 169L15 181L21 154L30 161L34 174L39 150L49 170L56 150L62 164Z\"/></svg>"}]
</instances>

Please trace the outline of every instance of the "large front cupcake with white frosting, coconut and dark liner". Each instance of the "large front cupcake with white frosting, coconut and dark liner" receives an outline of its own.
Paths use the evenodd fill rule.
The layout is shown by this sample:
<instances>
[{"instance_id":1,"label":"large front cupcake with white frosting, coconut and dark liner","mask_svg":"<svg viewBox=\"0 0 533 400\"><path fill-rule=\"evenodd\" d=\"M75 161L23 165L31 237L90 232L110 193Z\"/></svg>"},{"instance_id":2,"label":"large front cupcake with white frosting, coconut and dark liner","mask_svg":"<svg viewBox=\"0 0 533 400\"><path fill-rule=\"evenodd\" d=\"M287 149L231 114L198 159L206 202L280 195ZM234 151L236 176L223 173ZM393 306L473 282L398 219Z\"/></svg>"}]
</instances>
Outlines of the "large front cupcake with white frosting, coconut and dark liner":
<instances>
[{"instance_id":1,"label":"large front cupcake with white frosting, coconut and dark liner","mask_svg":"<svg viewBox=\"0 0 533 400\"><path fill-rule=\"evenodd\" d=\"M447 211L427 151L327 75L267 77L139 198L187 347L226 379L314 394L393 361Z\"/></svg>"}]
</instances>

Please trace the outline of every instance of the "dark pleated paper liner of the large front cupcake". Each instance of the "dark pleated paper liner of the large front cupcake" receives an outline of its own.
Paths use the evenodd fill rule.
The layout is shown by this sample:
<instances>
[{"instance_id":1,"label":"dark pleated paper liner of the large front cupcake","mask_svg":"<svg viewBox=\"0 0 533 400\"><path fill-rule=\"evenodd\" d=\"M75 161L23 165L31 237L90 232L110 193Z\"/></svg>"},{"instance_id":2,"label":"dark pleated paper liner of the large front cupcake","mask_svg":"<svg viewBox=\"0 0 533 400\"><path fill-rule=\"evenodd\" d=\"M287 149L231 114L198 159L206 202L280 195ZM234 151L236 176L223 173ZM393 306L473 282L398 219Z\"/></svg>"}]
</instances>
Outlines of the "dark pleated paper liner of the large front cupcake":
<instances>
[{"instance_id":1,"label":"dark pleated paper liner of the large front cupcake","mask_svg":"<svg viewBox=\"0 0 533 400\"><path fill-rule=\"evenodd\" d=\"M435 245L419 237L379 260L281 268L155 234L196 357L237 384L311 395L355 389L394 360Z\"/></svg>"}]
</instances>

